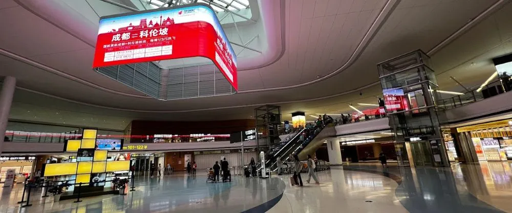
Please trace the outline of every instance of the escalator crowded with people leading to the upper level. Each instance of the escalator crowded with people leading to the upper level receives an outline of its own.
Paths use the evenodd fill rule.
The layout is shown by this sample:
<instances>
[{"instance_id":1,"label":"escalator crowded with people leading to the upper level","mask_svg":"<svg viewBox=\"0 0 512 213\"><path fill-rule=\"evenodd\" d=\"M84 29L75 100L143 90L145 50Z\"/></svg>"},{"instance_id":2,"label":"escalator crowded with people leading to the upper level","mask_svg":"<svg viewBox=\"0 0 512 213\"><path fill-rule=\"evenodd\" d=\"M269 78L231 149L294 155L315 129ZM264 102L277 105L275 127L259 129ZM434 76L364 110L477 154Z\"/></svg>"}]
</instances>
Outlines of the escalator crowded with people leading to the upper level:
<instances>
[{"instance_id":1,"label":"escalator crowded with people leading to the upper level","mask_svg":"<svg viewBox=\"0 0 512 213\"><path fill-rule=\"evenodd\" d=\"M336 135L336 131L334 124L328 122L324 127L310 126L292 134L290 134L291 137L288 136L281 141L280 146L271 150L265 158L265 167L269 168L270 171L277 169L278 159L281 162L286 162L292 153L297 154L300 160L306 160L307 155L314 153L326 138ZM301 134L305 135L304 140L301 140Z\"/></svg>"}]
</instances>

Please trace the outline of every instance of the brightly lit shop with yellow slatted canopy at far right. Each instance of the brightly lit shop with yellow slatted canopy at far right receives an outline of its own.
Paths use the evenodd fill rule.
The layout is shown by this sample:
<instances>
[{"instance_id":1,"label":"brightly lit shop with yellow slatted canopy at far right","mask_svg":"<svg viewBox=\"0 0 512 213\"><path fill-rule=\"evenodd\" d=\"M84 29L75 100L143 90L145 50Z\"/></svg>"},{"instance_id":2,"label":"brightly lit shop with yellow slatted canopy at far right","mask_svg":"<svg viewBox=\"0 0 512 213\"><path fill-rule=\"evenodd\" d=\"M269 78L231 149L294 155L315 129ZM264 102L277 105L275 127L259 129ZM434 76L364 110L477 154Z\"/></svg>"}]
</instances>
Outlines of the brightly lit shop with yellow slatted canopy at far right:
<instances>
[{"instance_id":1,"label":"brightly lit shop with yellow slatted canopy at far right","mask_svg":"<svg viewBox=\"0 0 512 213\"><path fill-rule=\"evenodd\" d=\"M512 120L458 127L479 161L512 160Z\"/></svg>"}]
</instances>

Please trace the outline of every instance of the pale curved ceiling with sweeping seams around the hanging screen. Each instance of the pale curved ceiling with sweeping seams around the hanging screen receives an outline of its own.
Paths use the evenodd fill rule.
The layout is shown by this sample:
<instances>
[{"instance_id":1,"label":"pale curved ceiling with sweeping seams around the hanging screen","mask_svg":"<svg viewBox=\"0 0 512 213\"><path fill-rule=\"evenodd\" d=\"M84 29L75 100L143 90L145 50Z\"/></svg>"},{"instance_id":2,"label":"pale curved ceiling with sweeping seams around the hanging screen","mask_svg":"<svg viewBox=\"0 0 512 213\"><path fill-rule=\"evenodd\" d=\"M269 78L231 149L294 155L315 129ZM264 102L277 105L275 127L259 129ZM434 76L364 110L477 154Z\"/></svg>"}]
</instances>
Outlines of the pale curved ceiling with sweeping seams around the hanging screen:
<instances>
[{"instance_id":1,"label":"pale curved ceiling with sweeping seams around the hanging screen","mask_svg":"<svg viewBox=\"0 0 512 213\"><path fill-rule=\"evenodd\" d=\"M26 115L29 108L40 108L40 114L61 110L93 121L110 116L116 120L110 128L122 129L123 119L250 118L252 109L265 103L282 105L285 114L339 113L348 111L349 102L375 102L373 96L381 95L376 63L387 58L430 51L441 88L461 91L450 76L475 86L493 72L490 58L512 50L509 1L282 1L284 52L279 60L239 72L239 94L173 101L143 97L97 74L91 69L90 45L15 1L0 1L0 74L15 76L24 89L16 92L11 117L61 122ZM471 62L475 65L468 66Z\"/></svg>"}]
</instances>

